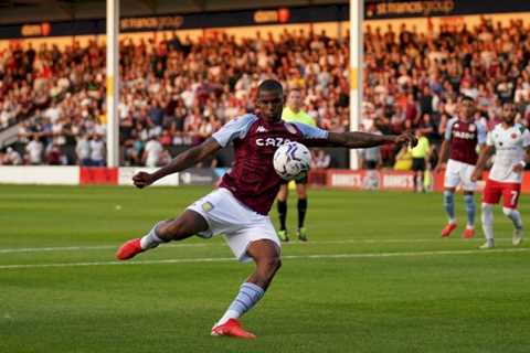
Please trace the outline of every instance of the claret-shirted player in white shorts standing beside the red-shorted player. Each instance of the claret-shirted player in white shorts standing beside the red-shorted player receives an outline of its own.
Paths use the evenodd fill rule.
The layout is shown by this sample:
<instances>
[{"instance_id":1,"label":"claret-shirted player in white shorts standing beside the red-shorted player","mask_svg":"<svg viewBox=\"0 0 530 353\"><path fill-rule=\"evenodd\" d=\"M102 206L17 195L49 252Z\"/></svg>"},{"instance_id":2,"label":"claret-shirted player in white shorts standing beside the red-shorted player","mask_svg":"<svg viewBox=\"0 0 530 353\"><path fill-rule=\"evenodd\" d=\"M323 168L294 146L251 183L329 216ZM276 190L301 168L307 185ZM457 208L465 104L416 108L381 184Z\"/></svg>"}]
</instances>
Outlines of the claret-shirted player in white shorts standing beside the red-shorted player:
<instances>
[{"instance_id":1,"label":"claret-shirted player in white shorts standing beside the red-shorted player","mask_svg":"<svg viewBox=\"0 0 530 353\"><path fill-rule=\"evenodd\" d=\"M478 159L477 145L481 148L486 142L486 127L474 121L475 101L470 97L460 98L457 115L447 121L445 139L442 142L439 161L436 165L436 170L439 171L449 156L444 180L444 206L448 223L442 229L442 236L449 236L456 228L455 191L456 186L462 184L467 212L467 226L463 237L473 238L475 236L474 192L477 190L477 183L471 181L471 174Z\"/></svg>"}]
</instances>

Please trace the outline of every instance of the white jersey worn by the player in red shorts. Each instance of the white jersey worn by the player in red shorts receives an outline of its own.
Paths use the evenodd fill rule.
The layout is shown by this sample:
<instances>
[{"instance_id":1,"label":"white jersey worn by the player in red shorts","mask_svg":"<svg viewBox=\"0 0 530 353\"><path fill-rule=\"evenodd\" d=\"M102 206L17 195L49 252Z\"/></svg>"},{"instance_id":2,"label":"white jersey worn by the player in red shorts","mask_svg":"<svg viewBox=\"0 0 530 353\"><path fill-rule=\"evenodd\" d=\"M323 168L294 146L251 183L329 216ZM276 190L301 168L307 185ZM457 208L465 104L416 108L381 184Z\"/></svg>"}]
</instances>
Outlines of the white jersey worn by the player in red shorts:
<instances>
[{"instance_id":1,"label":"white jersey worn by the player in red shorts","mask_svg":"<svg viewBox=\"0 0 530 353\"><path fill-rule=\"evenodd\" d=\"M494 167L489 172L489 179L505 183L520 183L521 173L512 171L513 165L524 160L526 149L530 147L530 131L520 125L505 129L498 124L488 133L486 141L495 147Z\"/></svg>"}]
</instances>

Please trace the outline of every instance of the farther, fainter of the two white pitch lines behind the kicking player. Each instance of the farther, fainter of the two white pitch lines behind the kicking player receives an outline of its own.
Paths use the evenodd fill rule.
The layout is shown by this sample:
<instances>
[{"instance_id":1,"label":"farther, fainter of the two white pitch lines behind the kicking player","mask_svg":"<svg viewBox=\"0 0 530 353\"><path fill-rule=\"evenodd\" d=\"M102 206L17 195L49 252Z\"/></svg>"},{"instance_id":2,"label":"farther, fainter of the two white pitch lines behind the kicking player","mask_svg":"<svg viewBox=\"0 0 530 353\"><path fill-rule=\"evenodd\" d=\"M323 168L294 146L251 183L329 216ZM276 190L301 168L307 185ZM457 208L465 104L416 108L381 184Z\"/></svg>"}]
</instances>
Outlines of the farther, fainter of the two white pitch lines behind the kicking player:
<instances>
[{"instance_id":1,"label":"farther, fainter of the two white pitch lines behind the kicking player","mask_svg":"<svg viewBox=\"0 0 530 353\"><path fill-rule=\"evenodd\" d=\"M511 240L511 238L495 238L499 242ZM283 246L292 245L320 245L320 244L407 244L407 243L441 243L447 242L447 238L427 238L427 239L344 239L344 240L322 240L322 242L289 242L282 243ZM483 239L480 239L483 240ZM209 247L220 246L223 243L192 243L192 244L166 244L163 247ZM47 253L47 252L85 252L85 250L109 250L118 249L117 245L87 245L87 246L55 246L55 247L20 247L20 248L0 248L0 254L13 253Z\"/></svg>"}]
</instances>

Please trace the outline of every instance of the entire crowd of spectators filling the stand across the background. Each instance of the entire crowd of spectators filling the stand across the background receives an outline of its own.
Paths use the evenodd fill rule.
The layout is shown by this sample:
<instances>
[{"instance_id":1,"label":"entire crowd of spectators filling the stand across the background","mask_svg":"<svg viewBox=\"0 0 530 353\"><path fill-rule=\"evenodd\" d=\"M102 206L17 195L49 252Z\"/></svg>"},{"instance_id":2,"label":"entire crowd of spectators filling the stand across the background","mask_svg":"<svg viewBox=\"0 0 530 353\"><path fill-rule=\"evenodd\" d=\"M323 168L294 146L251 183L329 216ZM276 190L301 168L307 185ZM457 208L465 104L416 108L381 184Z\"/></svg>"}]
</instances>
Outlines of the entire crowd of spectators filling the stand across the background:
<instances>
[{"instance_id":1,"label":"entire crowd of spectators filling the stand across the background","mask_svg":"<svg viewBox=\"0 0 530 353\"><path fill-rule=\"evenodd\" d=\"M445 121L455 114L460 95L476 100L477 119L489 127L499 121L507 100L517 104L520 120L528 125L528 32L519 20L501 25L484 19L473 29L442 25L426 32L405 24L368 25L361 129L421 130L436 158ZM279 79L287 89L301 88L305 110L321 128L348 130L348 36L304 31L285 31L278 39L257 32L241 41L220 33L121 42L124 164L163 163L171 147L200 143L229 119L254 110L257 85L266 77ZM105 162L104 46L91 42L60 51L53 45L14 45L0 52L0 126L15 121L32 103L50 99L46 108L38 106L32 119L19 124L19 140L26 143L20 163L39 163L29 152L35 140L43 145L41 163L50 163L50 150L60 151L53 161ZM64 146L75 146L75 160L61 154ZM10 163L9 153L0 154L0 163ZM381 153L381 164L391 167L398 151L386 148Z\"/></svg>"}]
</instances>

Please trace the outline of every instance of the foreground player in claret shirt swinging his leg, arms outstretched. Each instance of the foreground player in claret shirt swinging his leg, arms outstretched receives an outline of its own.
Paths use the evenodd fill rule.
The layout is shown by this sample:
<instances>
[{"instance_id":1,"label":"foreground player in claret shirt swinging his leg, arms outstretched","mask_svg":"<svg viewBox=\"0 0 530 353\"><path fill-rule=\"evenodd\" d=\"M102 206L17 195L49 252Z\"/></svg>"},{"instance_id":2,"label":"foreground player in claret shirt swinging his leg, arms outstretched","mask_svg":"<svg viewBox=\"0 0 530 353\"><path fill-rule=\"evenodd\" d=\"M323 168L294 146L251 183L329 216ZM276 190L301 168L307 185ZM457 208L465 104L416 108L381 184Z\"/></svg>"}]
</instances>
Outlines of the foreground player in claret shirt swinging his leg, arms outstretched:
<instances>
[{"instance_id":1,"label":"foreground player in claret shirt swinging his leg, arms outstretched","mask_svg":"<svg viewBox=\"0 0 530 353\"><path fill-rule=\"evenodd\" d=\"M283 97L279 82L264 81L257 90L256 115L247 114L227 122L211 138L180 153L153 173L139 172L132 176L137 188L146 188L166 175L195 165L233 142L235 161L219 189L191 204L179 217L161 221L144 237L128 240L116 253L118 259L126 260L161 243L193 235L210 238L224 234L235 257L241 261L254 260L255 270L213 325L212 335L254 339L253 333L241 327L239 318L262 299L280 267L280 242L267 216L282 183L273 167L273 154L278 146L286 141L347 148L415 143L411 133L336 133L282 121Z\"/></svg>"}]
</instances>

